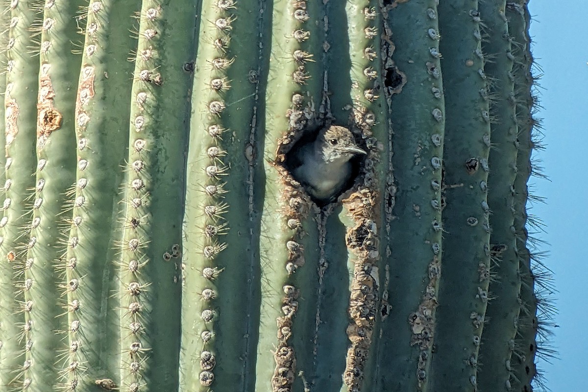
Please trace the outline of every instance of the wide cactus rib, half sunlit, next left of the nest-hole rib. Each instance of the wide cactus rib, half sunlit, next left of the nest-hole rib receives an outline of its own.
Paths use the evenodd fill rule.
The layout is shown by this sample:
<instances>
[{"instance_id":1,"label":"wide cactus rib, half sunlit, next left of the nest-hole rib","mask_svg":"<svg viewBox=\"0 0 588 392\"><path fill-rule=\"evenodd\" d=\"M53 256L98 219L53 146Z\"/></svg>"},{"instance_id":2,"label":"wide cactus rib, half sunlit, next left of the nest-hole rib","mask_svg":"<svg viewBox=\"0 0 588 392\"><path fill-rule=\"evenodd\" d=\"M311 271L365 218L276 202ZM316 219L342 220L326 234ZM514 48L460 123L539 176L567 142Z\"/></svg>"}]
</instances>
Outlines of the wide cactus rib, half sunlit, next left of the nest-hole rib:
<instances>
[{"instance_id":1,"label":"wide cactus rib, half sunlit, next left of the nest-hole rib","mask_svg":"<svg viewBox=\"0 0 588 392\"><path fill-rule=\"evenodd\" d=\"M247 359L252 350L249 310L255 307L254 284L242 277L253 266L249 236L253 235L250 203L256 140L252 133L257 121L253 102L258 99L259 59L241 54L259 38L255 24L260 17L254 3L209 0L202 5L182 264L182 323L192 326L182 331L181 379L187 390L237 384L246 388L252 383L245 369L250 368ZM236 88L232 78L238 81ZM216 339L237 330L244 340Z\"/></svg>"}]
</instances>

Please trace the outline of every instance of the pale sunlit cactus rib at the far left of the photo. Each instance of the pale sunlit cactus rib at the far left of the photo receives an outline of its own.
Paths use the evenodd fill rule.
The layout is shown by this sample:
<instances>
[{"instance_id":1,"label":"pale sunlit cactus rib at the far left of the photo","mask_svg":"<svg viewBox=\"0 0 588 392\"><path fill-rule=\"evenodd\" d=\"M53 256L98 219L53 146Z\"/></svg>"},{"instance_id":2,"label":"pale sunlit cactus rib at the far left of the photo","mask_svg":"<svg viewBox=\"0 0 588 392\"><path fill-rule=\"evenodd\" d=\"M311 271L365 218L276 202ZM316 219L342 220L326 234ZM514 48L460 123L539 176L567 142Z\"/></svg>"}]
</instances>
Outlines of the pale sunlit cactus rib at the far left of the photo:
<instances>
[{"instance_id":1,"label":"pale sunlit cactus rib at the far left of the photo","mask_svg":"<svg viewBox=\"0 0 588 392\"><path fill-rule=\"evenodd\" d=\"M37 93L39 62L29 52L34 47L32 26L39 24L39 15L34 11L35 1L11 2L11 22L9 25L9 39L6 46L7 72L5 103L5 176L4 186L6 199L3 205L4 217L2 218L2 254L6 261L15 270L16 286L22 287L22 292L17 293L10 300L16 301L9 305L9 309L15 309L16 315L21 315L21 322L17 324L18 350L15 357L18 358L19 368L8 368L10 380L6 385L10 388L24 388L32 384L32 344L33 324L31 313L25 311L26 301L31 297L27 294L28 287L34 284L34 272L32 263L26 259L26 248L23 251L22 243L27 243L27 229L32 226L32 205L29 200L31 190L35 186L36 167L36 119L37 119ZM8 201L6 201L8 200ZM28 226L28 227L27 227ZM25 229L26 227L26 229ZM38 266L40 269L42 266ZM52 265L48 266L51 269ZM41 271L39 271L41 273ZM10 276L10 275L9 275ZM22 314L24 313L24 317ZM51 314L54 316L54 314ZM14 322L8 319L6 322ZM39 321L39 327L42 322ZM12 325L14 328L14 324ZM10 347L10 346L8 346ZM14 347L14 346L13 346ZM41 349L43 350L43 349ZM52 364L52 363L51 363ZM40 364L40 366L44 366ZM8 380L6 376L3 380ZM35 380L38 381L38 380ZM35 386L36 387L36 386Z\"/></svg>"}]
</instances>

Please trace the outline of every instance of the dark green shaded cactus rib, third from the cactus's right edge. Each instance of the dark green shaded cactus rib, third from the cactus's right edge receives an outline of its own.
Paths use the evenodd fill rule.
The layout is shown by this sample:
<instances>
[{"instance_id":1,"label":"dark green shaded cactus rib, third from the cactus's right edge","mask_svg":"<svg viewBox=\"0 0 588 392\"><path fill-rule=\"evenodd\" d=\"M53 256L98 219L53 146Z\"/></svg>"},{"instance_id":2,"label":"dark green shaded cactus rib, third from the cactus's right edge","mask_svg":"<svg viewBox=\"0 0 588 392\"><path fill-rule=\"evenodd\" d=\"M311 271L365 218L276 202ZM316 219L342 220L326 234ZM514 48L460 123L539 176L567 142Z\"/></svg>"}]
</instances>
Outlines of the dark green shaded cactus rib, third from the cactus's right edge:
<instances>
[{"instance_id":1,"label":"dark green shaded cactus rib, third from the cactus's right edge","mask_svg":"<svg viewBox=\"0 0 588 392\"><path fill-rule=\"evenodd\" d=\"M445 88L442 274L431 377L433 390L477 388L479 341L488 300L487 176L490 112L477 0L439 4ZM459 28L456 28L459 26ZM450 43L459 42L459 45ZM432 56L441 56L432 51ZM467 77L465 76L467 75Z\"/></svg>"}]
</instances>

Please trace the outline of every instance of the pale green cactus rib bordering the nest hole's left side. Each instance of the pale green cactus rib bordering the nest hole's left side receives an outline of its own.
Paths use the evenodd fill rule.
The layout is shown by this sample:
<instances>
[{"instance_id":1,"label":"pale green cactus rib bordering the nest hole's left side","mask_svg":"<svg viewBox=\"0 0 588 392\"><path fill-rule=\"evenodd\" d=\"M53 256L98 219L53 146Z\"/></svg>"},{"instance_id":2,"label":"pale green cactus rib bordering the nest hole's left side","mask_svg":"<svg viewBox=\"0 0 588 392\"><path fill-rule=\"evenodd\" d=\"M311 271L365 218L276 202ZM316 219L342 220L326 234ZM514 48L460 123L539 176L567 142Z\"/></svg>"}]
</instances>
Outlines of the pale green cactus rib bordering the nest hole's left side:
<instances>
[{"instance_id":1,"label":"pale green cactus rib bordering the nest hole's left side","mask_svg":"<svg viewBox=\"0 0 588 392\"><path fill-rule=\"evenodd\" d=\"M260 244L260 279L266 288L261 297L255 390L290 390L296 376L301 376L296 380L298 389L316 371L318 230L309 215L308 196L295 189L295 181L282 166L283 154L305 126L316 129L320 121L323 75L311 70L321 61L324 29L320 9L312 2L276 1L272 16L261 220L261 232L269 237ZM276 320L278 331L264 333L262 326L275 325Z\"/></svg>"}]
</instances>

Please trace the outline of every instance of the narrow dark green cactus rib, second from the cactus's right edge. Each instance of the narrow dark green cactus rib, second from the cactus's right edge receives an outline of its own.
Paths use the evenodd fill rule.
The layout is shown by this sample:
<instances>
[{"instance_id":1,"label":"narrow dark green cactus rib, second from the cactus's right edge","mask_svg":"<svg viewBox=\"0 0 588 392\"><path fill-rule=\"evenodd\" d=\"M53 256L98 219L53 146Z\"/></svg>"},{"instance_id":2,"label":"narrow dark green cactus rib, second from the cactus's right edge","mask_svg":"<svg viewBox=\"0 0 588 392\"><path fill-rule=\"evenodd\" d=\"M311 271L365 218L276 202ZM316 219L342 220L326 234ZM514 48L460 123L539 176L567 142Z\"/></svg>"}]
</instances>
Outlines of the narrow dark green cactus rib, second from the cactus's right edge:
<instances>
[{"instance_id":1,"label":"narrow dark green cactus rib, second from the cactus's right edge","mask_svg":"<svg viewBox=\"0 0 588 392\"><path fill-rule=\"evenodd\" d=\"M512 346L509 343L517 333L516 319L519 315L519 260L516 256L516 239L512 231L515 217L513 183L516 177L517 123L515 112L514 81L512 78L513 54L505 15L506 2L480 3L483 21L494 26L483 42L483 50L493 56L487 62L485 72L492 81L489 85L490 112L500 122L490 123L491 139L488 175L488 208L490 226L490 281L489 301L486 317L490 322L482 331L480 361L483 366L478 373L480 390L503 384L510 389L510 363ZM507 39L505 39L505 37Z\"/></svg>"}]
</instances>

